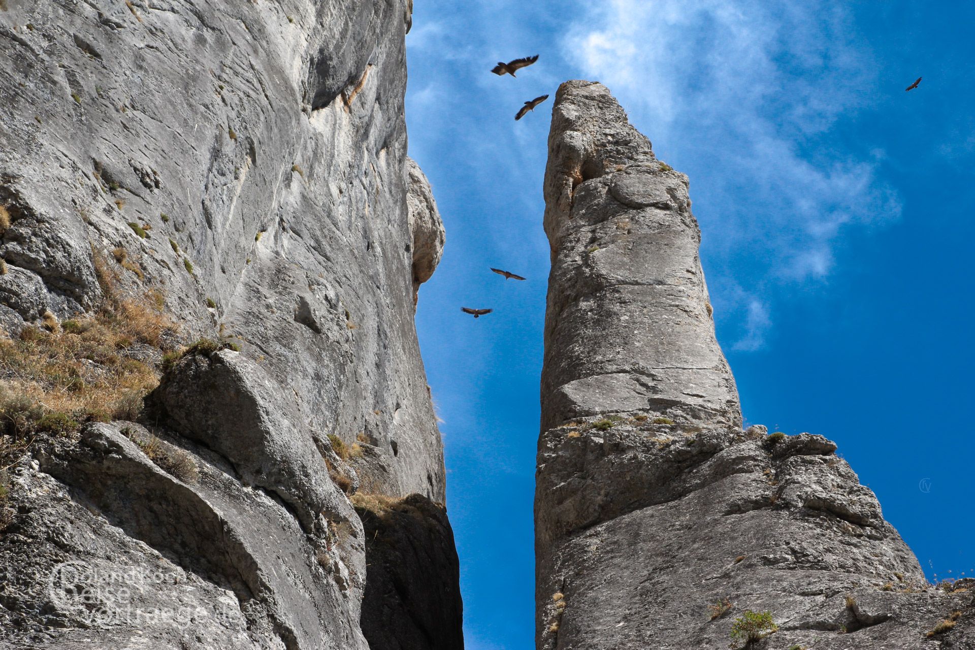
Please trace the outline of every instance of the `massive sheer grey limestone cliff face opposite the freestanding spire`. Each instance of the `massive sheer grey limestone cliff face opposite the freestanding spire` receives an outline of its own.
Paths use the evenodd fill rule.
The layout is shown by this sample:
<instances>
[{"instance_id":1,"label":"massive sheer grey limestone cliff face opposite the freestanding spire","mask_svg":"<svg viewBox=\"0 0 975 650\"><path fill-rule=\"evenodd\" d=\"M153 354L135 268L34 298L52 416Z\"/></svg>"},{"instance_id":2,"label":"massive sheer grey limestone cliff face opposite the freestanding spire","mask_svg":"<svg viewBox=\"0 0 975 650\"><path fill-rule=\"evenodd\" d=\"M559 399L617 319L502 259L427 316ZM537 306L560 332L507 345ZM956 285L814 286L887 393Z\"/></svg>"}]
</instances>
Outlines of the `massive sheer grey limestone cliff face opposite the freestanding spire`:
<instances>
[{"instance_id":1,"label":"massive sheer grey limestone cliff face opposite the freestanding spire","mask_svg":"<svg viewBox=\"0 0 975 650\"><path fill-rule=\"evenodd\" d=\"M168 362L139 422L39 434L8 469L0 642L389 647L364 636L353 492L439 509L423 539L439 535L433 568L455 576L412 320L444 233L407 158L411 4L0 2L7 340L67 332L99 309L107 275L117 296L153 296L177 342L227 342ZM422 554L392 537L384 553ZM77 593L111 571L163 575L128 611L192 621L112 619L104 589L52 595L64 562L90 569ZM456 600L443 625L457 633L416 647L459 647L455 583L438 597Z\"/></svg>"}]
</instances>

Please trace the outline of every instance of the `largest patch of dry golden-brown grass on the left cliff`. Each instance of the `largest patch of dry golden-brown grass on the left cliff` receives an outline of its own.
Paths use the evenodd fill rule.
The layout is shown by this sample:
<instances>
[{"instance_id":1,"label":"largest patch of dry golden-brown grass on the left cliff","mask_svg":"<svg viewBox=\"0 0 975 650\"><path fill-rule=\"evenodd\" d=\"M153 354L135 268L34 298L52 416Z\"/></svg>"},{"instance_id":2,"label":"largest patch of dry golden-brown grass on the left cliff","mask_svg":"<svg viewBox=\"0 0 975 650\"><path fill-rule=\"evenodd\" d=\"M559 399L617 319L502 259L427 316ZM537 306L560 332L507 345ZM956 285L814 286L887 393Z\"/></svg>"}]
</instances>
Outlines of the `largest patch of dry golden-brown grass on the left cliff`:
<instances>
[{"instance_id":1,"label":"largest patch of dry golden-brown grass on the left cliff","mask_svg":"<svg viewBox=\"0 0 975 650\"><path fill-rule=\"evenodd\" d=\"M176 325L158 301L122 297L117 277L97 257L103 298L91 315L46 331L25 326L0 334L0 428L14 440L32 432L73 433L85 421L133 419L159 383L143 361L146 346L166 350Z\"/></svg>"}]
</instances>

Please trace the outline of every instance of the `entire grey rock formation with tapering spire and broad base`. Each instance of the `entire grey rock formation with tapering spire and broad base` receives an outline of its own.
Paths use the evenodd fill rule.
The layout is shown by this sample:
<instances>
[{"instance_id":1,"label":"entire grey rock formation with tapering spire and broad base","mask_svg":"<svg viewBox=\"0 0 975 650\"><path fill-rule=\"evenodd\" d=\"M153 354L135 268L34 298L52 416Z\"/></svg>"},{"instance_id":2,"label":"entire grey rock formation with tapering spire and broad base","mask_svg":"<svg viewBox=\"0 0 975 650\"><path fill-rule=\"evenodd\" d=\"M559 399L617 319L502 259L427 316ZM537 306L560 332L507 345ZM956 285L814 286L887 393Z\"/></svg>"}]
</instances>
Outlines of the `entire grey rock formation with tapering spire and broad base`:
<instances>
[{"instance_id":1,"label":"entire grey rock formation with tapering spire and broad base","mask_svg":"<svg viewBox=\"0 0 975 650\"><path fill-rule=\"evenodd\" d=\"M975 647L836 444L741 429L687 178L604 86L560 88L545 199L537 647L724 648L746 610L751 647Z\"/></svg>"}]
</instances>

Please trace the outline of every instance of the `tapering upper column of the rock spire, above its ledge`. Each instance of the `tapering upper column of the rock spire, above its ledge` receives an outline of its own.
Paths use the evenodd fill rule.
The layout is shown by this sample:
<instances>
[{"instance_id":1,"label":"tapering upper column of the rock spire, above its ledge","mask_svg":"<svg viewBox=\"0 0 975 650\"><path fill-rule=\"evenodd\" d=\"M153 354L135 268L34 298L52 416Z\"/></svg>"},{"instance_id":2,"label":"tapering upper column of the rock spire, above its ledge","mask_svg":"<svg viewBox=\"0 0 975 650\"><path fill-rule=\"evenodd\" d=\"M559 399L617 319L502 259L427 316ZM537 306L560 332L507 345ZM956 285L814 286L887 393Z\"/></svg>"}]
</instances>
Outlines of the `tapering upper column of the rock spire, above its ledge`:
<instances>
[{"instance_id":1,"label":"tapering upper column of the rock spire, above its ledge","mask_svg":"<svg viewBox=\"0 0 975 650\"><path fill-rule=\"evenodd\" d=\"M638 410L740 425L687 177L654 157L602 84L566 82L556 96L545 202L542 428Z\"/></svg>"}]
</instances>

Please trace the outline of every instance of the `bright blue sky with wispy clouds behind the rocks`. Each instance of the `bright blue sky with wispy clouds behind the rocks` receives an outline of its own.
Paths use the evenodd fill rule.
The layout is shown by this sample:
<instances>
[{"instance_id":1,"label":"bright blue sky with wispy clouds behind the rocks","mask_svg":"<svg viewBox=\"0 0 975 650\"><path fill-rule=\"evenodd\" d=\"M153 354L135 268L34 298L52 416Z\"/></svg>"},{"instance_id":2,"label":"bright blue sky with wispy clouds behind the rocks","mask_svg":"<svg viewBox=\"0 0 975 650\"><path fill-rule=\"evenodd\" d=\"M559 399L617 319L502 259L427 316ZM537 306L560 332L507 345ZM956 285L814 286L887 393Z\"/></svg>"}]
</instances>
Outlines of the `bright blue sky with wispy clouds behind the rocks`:
<instances>
[{"instance_id":1,"label":"bright blue sky with wispy clouds behind the rocks","mask_svg":"<svg viewBox=\"0 0 975 650\"><path fill-rule=\"evenodd\" d=\"M552 99L513 118L566 79L603 82L690 176L747 420L836 440L929 578L975 575L973 22L961 2L416 1L409 152L447 226L416 323L470 649L532 647Z\"/></svg>"}]
</instances>

